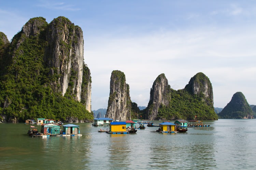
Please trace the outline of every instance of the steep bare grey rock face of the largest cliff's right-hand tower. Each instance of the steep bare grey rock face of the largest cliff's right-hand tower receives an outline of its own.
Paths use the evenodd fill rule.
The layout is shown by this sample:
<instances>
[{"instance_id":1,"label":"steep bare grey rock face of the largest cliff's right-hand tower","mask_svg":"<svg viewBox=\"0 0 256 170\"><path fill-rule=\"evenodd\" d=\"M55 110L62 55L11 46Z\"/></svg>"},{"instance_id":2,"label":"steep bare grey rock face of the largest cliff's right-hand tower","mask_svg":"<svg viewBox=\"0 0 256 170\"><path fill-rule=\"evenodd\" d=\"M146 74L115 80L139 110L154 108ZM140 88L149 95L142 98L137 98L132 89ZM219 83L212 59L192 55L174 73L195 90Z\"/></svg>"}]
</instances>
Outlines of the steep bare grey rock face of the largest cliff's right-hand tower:
<instances>
[{"instance_id":1,"label":"steep bare grey rock face of the largest cliff's right-hand tower","mask_svg":"<svg viewBox=\"0 0 256 170\"><path fill-rule=\"evenodd\" d=\"M55 18L46 33L48 46L44 61L52 68L51 73L60 75L52 86L56 92L66 94L71 85L75 99L81 101L81 85L83 77L84 42L83 32L65 17ZM72 83L71 83L72 82Z\"/></svg>"}]
</instances>

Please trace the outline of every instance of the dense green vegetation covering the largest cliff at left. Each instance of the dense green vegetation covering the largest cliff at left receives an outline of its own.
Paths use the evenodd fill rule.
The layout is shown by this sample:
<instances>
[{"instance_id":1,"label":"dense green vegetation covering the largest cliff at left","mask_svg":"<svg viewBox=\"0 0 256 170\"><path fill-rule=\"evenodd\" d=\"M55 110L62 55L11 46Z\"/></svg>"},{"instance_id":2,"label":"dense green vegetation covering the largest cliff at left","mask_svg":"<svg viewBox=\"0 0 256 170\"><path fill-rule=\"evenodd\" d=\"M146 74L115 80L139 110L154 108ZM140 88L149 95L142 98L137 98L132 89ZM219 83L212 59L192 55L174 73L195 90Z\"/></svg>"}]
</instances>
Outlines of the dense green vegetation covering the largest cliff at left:
<instances>
[{"instance_id":1,"label":"dense green vegetation covering the largest cliff at left","mask_svg":"<svg viewBox=\"0 0 256 170\"><path fill-rule=\"evenodd\" d=\"M0 70L0 115L8 122L42 117L63 121L71 117L92 120L93 115L69 92L62 97L51 87L53 82L58 82L60 74L43 61L45 48L49 45L46 40L49 24L42 17L32 18L26 24L36 25L37 30L28 30L29 36L24 30L17 33L9 50L0 56L0 63L4 63ZM0 51L2 49L0 46ZM49 73L51 70L53 74ZM72 87L70 83L67 91Z\"/></svg>"}]
</instances>

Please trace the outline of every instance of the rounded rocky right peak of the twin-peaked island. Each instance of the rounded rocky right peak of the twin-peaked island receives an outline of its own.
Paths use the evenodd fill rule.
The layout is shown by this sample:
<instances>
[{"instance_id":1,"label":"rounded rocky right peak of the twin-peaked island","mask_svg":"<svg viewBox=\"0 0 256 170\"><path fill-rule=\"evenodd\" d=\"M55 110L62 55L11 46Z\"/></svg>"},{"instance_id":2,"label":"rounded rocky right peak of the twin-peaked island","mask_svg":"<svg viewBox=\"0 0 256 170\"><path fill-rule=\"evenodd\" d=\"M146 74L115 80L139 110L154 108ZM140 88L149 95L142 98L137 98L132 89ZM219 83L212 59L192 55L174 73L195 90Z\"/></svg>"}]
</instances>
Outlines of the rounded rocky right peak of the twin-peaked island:
<instances>
[{"instance_id":1,"label":"rounded rocky right peak of the twin-peaked island","mask_svg":"<svg viewBox=\"0 0 256 170\"><path fill-rule=\"evenodd\" d=\"M190 79L185 89L193 95L202 97L209 106L213 106L213 90L209 78L202 72L197 73Z\"/></svg>"}]
</instances>

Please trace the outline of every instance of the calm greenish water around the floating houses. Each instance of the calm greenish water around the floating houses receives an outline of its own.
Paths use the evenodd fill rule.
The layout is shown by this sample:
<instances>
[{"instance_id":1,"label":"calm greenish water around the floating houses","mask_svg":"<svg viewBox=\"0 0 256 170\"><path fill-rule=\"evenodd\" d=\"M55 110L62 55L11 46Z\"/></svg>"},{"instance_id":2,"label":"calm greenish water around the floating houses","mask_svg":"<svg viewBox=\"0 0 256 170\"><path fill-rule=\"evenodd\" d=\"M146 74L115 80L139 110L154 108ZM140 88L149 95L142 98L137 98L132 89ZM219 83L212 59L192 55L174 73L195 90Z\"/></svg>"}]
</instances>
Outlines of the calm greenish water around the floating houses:
<instances>
[{"instance_id":1,"label":"calm greenish water around the floating houses","mask_svg":"<svg viewBox=\"0 0 256 170\"><path fill-rule=\"evenodd\" d=\"M44 139L27 136L27 124L0 123L0 169L255 169L256 119L204 123L211 126L176 134L147 126L106 134L74 123L83 136Z\"/></svg>"}]
</instances>

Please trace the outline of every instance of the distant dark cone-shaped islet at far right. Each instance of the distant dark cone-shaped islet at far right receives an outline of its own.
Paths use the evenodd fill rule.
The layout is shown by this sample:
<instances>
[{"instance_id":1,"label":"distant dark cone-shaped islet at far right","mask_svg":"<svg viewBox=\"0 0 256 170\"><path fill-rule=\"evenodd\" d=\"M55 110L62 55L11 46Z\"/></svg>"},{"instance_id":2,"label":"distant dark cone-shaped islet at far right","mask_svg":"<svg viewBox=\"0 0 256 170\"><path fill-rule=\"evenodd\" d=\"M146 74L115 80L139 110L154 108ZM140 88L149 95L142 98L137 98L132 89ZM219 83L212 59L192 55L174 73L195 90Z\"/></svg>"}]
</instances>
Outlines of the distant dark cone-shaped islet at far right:
<instances>
[{"instance_id":1,"label":"distant dark cone-shaped islet at far right","mask_svg":"<svg viewBox=\"0 0 256 170\"><path fill-rule=\"evenodd\" d=\"M236 92L231 101L218 114L223 119L253 119L253 110L242 92Z\"/></svg>"}]
</instances>

